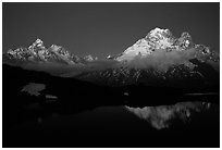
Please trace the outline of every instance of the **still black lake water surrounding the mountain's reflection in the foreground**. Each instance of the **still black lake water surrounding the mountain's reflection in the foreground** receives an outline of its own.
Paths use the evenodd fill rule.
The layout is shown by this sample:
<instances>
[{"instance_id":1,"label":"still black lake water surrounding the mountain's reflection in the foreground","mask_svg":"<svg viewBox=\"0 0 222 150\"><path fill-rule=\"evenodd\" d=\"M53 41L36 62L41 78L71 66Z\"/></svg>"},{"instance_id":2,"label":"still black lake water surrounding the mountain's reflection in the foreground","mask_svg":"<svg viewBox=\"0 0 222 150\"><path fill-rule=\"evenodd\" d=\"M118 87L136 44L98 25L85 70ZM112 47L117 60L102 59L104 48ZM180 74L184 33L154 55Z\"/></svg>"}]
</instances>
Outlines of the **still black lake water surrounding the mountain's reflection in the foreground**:
<instances>
[{"instance_id":1,"label":"still black lake water surrounding the mountain's reflection in the foreground","mask_svg":"<svg viewBox=\"0 0 222 150\"><path fill-rule=\"evenodd\" d=\"M155 117L156 118L156 117ZM155 128L126 107L100 107L76 114L52 113L12 126L10 147L219 147L220 108L192 112L188 121L169 120ZM161 121L160 121L161 122Z\"/></svg>"}]
</instances>

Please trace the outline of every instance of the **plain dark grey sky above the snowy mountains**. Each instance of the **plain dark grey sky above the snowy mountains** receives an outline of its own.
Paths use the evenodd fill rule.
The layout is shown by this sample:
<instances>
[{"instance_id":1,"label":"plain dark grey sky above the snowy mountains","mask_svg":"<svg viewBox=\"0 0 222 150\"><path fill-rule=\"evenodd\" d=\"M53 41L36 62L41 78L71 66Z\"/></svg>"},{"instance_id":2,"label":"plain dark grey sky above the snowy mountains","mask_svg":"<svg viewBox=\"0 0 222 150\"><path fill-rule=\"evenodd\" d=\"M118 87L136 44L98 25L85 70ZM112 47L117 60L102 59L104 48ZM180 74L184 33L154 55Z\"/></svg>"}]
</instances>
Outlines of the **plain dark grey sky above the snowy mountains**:
<instances>
[{"instance_id":1,"label":"plain dark grey sky above the snowy mountains","mask_svg":"<svg viewBox=\"0 0 222 150\"><path fill-rule=\"evenodd\" d=\"M220 49L220 3L3 3L3 51L61 45L79 57L118 54L155 27Z\"/></svg>"}]
</instances>

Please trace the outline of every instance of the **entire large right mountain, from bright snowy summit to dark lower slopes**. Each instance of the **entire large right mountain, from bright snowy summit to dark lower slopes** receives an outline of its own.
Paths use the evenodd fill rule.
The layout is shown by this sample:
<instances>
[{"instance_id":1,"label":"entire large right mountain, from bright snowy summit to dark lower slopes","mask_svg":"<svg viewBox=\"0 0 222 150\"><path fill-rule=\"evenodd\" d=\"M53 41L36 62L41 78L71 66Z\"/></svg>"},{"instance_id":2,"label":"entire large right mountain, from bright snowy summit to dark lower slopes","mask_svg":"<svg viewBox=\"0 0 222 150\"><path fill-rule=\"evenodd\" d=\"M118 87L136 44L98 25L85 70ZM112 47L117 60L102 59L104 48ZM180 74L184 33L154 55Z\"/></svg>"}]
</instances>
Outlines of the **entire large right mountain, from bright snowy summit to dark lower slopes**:
<instances>
[{"instance_id":1,"label":"entire large right mountain, from bright snowy summit to dark lower slopes","mask_svg":"<svg viewBox=\"0 0 222 150\"><path fill-rule=\"evenodd\" d=\"M178 59L171 62L166 57ZM108 59L120 64L104 71L85 72L76 77L109 86L161 84L194 87L212 86L220 78L219 72L211 65L219 64L219 55L203 45L195 45L188 33L176 39L169 29L156 28L123 53Z\"/></svg>"}]
</instances>

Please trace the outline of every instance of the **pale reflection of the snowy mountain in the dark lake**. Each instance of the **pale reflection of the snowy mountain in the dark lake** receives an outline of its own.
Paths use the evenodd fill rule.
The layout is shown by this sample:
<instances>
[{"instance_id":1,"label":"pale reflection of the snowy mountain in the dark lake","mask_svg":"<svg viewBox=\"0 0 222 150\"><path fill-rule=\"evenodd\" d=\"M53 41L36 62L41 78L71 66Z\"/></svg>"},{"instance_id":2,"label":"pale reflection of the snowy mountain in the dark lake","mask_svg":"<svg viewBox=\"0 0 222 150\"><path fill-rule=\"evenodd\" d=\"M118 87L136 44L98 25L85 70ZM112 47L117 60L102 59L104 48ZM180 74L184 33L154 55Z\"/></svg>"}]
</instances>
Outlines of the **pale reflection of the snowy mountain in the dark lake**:
<instances>
[{"instance_id":1,"label":"pale reflection of the snowy mountain in the dark lake","mask_svg":"<svg viewBox=\"0 0 222 150\"><path fill-rule=\"evenodd\" d=\"M157 129L169 128L176 118L186 123L189 121L192 113L198 113L210 109L207 102L180 102L173 105L132 108L125 107L126 110L150 123Z\"/></svg>"}]
</instances>

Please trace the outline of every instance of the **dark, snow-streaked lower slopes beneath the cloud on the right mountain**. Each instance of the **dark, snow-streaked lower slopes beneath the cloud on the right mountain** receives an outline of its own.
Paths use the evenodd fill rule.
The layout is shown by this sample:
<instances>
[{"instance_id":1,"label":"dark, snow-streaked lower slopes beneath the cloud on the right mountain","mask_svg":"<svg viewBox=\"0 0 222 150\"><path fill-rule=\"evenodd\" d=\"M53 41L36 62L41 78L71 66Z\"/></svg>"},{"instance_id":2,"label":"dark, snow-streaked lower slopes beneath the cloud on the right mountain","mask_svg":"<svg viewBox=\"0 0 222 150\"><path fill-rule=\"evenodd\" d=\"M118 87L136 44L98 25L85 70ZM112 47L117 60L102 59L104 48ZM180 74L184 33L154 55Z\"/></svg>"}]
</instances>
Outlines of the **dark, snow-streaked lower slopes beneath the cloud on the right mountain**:
<instances>
[{"instance_id":1,"label":"dark, snow-streaked lower slopes beneath the cloud on the right mountain","mask_svg":"<svg viewBox=\"0 0 222 150\"><path fill-rule=\"evenodd\" d=\"M197 60L194 60L197 61ZM199 63L199 62L198 62ZM208 71L200 70L209 68ZM210 73L210 74L209 74ZM75 76L78 79L91 82L98 85L112 87L145 85L145 86L171 86L205 88L218 85L220 74L210 65L199 63L194 70L183 64L171 66L166 72L141 68L108 68L104 71L85 72Z\"/></svg>"}]
</instances>

